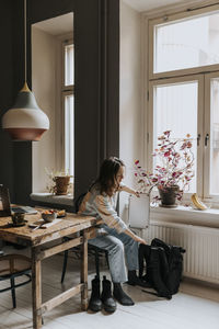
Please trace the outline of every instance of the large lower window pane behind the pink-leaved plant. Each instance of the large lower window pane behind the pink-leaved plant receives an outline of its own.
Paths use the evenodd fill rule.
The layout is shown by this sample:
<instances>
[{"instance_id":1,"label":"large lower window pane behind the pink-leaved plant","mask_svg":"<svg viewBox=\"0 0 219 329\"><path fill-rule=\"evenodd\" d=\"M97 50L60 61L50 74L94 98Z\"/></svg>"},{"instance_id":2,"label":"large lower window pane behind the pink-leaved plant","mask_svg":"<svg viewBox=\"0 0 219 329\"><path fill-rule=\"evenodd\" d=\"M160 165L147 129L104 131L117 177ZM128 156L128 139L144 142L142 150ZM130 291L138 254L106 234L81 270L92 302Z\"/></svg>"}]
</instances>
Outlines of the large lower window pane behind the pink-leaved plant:
<instances>
[{"instance_id":1,"label":"large lower window pane behind the pink-leaved plant","mask_svg":"<svg viewBox=\"0 0 219 329\"><path fill-rule=\"evenodd\" d=\"M195 177L191 182L189 193L196 191L197 172L197 100L198 83L196 81L155 86L153 89L153 149L158 145L158 136L171 131L171 137L185 138L187 134L194 138L192 151L195 156ZM157 161L157 162L155 162ZM154 158L154 163L161 164Z\"/></svg>"}]
</instances>

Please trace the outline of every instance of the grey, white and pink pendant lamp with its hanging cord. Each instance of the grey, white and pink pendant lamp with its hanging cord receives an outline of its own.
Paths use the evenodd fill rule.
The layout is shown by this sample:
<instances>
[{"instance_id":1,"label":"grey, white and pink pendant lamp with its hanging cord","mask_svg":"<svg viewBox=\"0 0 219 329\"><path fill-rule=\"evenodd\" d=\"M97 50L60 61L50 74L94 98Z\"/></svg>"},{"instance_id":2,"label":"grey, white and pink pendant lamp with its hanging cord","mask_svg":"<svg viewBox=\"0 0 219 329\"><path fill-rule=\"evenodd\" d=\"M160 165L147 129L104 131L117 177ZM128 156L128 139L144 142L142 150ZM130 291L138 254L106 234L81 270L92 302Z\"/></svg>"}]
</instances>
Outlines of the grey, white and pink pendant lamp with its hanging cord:
<instances>
[{"instance_id":1,"label":"grey, white and pink pendant lamp with its hanging cord","mask_svg":"<svg viewBox=\"0 0 219 329\"><path fill-rule=\"evenodd\" d=\"M19 92L15 104L2 116L2 128L13 140L39 140L43 133L49 128L49 120L38 107L26 83L26 0L24 0L24 87Z\"/></svg>"}]
</instances>

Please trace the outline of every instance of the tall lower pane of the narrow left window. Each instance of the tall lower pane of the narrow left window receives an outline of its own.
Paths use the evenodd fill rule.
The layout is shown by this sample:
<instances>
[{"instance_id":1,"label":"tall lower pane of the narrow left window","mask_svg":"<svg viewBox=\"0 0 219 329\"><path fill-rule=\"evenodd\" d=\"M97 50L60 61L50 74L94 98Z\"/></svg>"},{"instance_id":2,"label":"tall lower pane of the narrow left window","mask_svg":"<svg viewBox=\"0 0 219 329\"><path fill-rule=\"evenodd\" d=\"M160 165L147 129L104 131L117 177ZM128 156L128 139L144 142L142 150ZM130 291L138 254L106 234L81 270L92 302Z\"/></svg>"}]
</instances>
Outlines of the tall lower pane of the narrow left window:
<instances>
[{"instance_id":1,"label":"tall lower pane of the narrow left window","mask_svg":"<svg viewBox=\"0 0 219 329\"><path fill-rule=\"evenodd\" d=\"M65 97L65 169L71 175L74 171L74 115L73 95Z\"/></svg>"}]
</instances>

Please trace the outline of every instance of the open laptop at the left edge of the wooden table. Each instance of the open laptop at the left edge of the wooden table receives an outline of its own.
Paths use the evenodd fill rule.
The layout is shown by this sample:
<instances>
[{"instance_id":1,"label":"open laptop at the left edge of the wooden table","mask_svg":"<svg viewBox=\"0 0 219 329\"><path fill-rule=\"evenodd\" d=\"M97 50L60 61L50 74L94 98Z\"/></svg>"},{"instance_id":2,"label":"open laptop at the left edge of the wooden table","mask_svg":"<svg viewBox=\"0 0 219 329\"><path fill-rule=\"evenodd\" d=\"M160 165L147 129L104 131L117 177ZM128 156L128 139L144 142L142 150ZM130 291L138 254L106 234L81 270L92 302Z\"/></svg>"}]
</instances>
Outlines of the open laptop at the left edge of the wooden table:
<instances>
[{"instance_id":1,"label":"open laptop at the left edge of the wooden table","mask_svg":"<svg viewBox=\"0 0 219 329\"><path fill-rule=\"evenodd\" d=\"M9 189L0 185L0 217L11 216L11 213L37 214L31 206L12 206L10 203Z\"/></svg>"}]
</instances>

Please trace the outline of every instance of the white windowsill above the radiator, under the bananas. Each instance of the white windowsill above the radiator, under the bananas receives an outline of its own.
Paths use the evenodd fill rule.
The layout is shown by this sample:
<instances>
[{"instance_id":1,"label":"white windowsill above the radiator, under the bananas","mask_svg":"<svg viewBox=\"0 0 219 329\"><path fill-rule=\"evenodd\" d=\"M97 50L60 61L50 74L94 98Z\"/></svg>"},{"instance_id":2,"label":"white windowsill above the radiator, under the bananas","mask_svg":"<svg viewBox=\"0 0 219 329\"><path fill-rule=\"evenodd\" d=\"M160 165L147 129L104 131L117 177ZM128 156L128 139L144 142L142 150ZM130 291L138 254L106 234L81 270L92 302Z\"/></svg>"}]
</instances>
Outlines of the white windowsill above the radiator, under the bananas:
<instances>
[{"instance_id":1,"label":"white windowsill above the radiator, under the bananas","mask_svg":"<svg viewBox=\"0 0 219 329\"><path fill-rule=\"evenodd\" d=\"M155 206L150 208L150 220L219 228L219 209L198 211L191 206L176 208Z\"/></svg>"}]
</instances>

